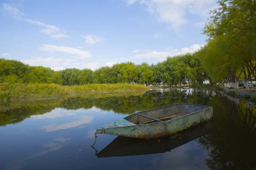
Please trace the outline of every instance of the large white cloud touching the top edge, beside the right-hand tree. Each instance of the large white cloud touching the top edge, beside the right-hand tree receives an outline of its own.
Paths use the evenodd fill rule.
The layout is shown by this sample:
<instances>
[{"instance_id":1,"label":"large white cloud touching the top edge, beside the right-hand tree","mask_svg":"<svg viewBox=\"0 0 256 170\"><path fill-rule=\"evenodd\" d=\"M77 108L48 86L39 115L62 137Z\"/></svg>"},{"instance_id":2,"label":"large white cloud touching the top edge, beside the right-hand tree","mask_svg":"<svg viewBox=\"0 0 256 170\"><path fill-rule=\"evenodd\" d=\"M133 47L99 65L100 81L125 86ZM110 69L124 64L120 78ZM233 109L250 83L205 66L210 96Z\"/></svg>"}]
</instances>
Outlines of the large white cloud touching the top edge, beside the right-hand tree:
<instances>
[{"instance_id":1,"label":"large white cloud touching the top edge, beside the right-hand tree","mask_svg":"<svg viewBox=\"0 0 256 170\"><path fill-rule=\"evenodd\" d=\"M131 5L136 0L125 2ZM187 16L197 14L206 19L209 9L216 7L215 0L141 0L140 4L154 14L158 21L170 24L175 31L190 22Z\"/></svg>"}]
</instances>

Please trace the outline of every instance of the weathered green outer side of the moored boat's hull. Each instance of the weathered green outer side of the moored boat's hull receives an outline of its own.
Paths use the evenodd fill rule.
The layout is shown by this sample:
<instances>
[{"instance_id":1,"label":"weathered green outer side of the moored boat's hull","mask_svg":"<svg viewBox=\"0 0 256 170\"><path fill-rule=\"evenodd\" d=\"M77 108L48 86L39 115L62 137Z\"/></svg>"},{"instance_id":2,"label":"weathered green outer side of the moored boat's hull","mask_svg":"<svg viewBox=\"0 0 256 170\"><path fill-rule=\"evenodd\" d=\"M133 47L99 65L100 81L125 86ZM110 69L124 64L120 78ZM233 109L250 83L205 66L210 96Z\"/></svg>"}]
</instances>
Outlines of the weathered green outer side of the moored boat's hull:
<instances>
[{"instance_id":1,"label":"weathered green outer side of the moored boat's hull","mask_svg":"<svg viewBox=\"0 0 256 170\"><path fill-rule=\"evenodd\" d=\"M189 107L189 104L183 104ZM201 105L190 105L191 107L205 107ZM164 107L163 107L164 108ZM152 109L157 110L157 109ZM149 110L149 111L152 111ZM139 139L157 139L170 136L174 133L186 130L190 127L209 121L213 117L213 108L207 107L185 116L178 117L166 122L157 122L144 125L116 126L97 129L96 133L111 134Z\"/></svg>"}]
</instances>

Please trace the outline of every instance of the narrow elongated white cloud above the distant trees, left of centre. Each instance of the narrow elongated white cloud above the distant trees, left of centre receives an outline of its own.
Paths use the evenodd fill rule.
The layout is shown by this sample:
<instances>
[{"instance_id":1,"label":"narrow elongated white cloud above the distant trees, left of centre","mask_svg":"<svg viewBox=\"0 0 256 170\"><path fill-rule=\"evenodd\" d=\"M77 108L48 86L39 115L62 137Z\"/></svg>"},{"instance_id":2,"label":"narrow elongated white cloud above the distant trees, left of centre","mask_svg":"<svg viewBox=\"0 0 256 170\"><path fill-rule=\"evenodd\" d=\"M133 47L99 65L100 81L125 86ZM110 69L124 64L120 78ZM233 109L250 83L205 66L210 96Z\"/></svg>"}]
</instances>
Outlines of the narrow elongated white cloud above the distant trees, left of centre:
<instances>
[{"instance_id":1,"label":"narrow elongated white cloud above the distant trees, left of centre","mask_svg":"<svg viewBox=\"0 0 256 170\"><path fill-rule=\"evenodd\" d=\"M80 50L72 47L44 44L42 47L39 47L39 49L42 51L57 51L57 52L75 54L81 59L92 57L92 54L90 53L90 51Z\"/></svg>"}]
</instances>

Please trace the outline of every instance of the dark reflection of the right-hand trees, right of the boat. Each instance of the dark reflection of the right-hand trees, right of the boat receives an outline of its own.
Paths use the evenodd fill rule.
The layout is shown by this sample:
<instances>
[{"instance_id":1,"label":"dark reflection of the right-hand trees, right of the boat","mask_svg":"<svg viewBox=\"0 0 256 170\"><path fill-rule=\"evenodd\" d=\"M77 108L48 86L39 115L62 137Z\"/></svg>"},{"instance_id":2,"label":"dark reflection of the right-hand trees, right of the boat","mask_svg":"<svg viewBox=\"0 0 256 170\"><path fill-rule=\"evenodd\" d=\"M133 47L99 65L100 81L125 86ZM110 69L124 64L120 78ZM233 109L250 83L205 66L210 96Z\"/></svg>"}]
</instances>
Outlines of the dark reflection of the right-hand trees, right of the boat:
<instances>
[{"instance_id":1,"label":"dark reflection of the right-hand trees, right of the boat","mask_svg":"<svg viewBox=\"0 0 256 170\"><path fill-rule=\"evenodd\" d=\"M197 139L208 151L211 170L256 169L256 109L254 104L229 96L211 101L214 130ZM226 114L225 114L226 113Z\"/></svg>"}]
</instances>

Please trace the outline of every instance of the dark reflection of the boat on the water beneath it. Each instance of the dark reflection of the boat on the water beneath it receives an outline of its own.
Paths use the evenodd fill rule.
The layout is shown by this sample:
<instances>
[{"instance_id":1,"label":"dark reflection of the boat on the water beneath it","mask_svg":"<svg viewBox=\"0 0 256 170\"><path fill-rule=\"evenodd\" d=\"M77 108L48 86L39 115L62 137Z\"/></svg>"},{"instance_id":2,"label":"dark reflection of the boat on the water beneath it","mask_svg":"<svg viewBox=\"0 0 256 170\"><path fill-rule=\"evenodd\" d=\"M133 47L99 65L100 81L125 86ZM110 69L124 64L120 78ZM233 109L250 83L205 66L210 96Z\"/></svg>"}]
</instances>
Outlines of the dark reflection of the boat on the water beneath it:
<instances>
[{"instance_id":1,"label":"dark reflection of the boat on the water beneath it","mask_svg":"<svg viewBox=\"0 0 256 170\"><path fill-rule=\"evenodd\" d=\"M96 153L96 156L104 158L170 152L176 147L204 136L211 132L212 129L213 122L209 121L163 139L136 139L118 136L107 147Z\"/></svg>"}]
</instances>

